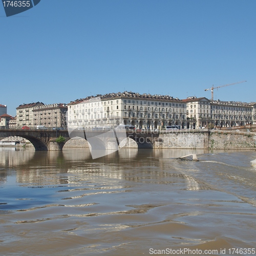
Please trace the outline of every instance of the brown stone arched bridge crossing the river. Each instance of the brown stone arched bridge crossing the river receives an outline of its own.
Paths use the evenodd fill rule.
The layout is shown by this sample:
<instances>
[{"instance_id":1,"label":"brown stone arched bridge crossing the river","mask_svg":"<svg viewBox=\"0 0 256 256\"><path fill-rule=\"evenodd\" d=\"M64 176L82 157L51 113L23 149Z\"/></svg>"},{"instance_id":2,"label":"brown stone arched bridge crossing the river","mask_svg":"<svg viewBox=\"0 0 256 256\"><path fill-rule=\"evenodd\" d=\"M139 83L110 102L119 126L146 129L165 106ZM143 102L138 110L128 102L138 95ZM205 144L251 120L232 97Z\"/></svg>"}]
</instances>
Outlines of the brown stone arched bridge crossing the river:
<instances>
[{"instance_id":1,"label":"brown stone arched bridge crossing the river","mask_svg":"<svg viewBox=\"0 0 256 256\"><path fill-rule=\"evenodd\" d=\"M105 135L105 136L104 136ZM36 151L44 150L62 150L65 143L73 137L80 137L88 140L90 144L93 144L97 149L113 149L111 144L120 144L120 136L118 131L85 131L85 130L41 130L41 129L0 129L0 140L10 136L19 136L29 140ZM62 136L65 141L57 143L56 138ZM138 148L153 148L154 141L159 137L159 133L141 133L141 132L130 132L125 131L122 133L121 139L130 138L137 143ZM99 139L103 138L103 139ZM117 143L116 143L117 142ZM126 142L126 141L125 141ZM125 143L123 143L125 144Z\"/></svg>"}]
</instances>

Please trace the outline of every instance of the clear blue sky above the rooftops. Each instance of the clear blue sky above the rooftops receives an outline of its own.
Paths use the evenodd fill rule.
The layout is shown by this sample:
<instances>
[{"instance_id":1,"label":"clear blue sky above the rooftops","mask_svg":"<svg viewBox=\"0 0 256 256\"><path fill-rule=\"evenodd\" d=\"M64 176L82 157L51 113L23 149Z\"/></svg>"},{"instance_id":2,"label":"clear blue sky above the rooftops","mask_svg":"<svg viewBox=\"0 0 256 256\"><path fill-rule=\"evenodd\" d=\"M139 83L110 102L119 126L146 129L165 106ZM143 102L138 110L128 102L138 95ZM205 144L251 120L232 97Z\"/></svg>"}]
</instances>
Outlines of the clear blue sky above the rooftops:
<instances>
[{"instance_id":1,"label":"clear blue sky above the rooftops","mask_svg":"<svg viewBox=\"0 0 256 256\"><path fill-rule=\"evenodd\" d=\"M256 101L255 0L0 3L0 104L69 103L132 91Z\"/></svg>"}]
</instances>

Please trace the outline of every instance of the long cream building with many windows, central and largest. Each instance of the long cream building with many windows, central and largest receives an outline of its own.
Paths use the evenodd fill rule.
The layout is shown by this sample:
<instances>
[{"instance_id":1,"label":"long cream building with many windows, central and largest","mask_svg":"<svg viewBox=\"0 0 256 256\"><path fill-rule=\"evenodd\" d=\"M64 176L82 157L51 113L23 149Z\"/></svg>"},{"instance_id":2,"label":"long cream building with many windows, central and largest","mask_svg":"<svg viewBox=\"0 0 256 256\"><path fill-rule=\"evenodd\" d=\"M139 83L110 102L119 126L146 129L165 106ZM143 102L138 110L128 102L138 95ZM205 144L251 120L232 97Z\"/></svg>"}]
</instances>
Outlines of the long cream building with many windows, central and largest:
<instances>
[{"instance_id":1,"label":"long cream building with many windows, central and largest","mask_svg":"<svg viewBox=\"0 0 256 256\"><path fill-rule=\"evenodd\" d=\"M68 126L112 128L119 124L136 129L164 129L186 124L186 103L168 95L133 92L90 96L68 104Z\"/></svg>"}]
</instances>

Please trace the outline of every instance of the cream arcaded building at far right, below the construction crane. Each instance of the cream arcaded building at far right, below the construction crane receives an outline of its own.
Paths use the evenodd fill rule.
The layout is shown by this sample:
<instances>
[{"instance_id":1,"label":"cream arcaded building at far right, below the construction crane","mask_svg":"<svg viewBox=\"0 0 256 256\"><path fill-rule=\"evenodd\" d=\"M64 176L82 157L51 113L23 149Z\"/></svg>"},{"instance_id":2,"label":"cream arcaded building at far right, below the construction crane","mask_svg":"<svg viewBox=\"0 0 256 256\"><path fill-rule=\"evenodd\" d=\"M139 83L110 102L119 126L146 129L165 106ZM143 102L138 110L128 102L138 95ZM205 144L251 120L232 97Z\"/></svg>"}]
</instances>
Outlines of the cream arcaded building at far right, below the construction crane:
<instances>
[{"instance_id":1,"label":"cream arcaded building at far right, below the construction crane","mask_svg":"<svg viewBox=\"0 0 256 256\"><path fill-rule=\"evenodd\" d=\"M230 127L255 123L255 104L188 97L187 128Z\"/></svg>"}]
</instances>

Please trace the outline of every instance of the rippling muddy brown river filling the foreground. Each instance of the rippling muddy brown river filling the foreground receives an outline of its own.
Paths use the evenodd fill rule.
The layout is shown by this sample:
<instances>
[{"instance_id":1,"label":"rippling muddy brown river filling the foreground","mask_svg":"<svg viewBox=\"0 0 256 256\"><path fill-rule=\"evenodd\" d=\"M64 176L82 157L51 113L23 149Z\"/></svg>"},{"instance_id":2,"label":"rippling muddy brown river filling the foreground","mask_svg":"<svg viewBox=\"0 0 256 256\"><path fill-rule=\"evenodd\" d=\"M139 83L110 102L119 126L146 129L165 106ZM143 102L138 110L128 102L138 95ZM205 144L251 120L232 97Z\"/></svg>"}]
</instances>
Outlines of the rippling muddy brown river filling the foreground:
<instances>
[{"instance_id":1,"label":"rippling muddy brown river filling the foreground","mask_svg":"<svg viewBox=\"0 0 256 256\"><path fill-rule=\"evenodd\" d=\"M0 147L0 193L1 255L256 254L255 151Z\"/></svg>"}]
</instances>

